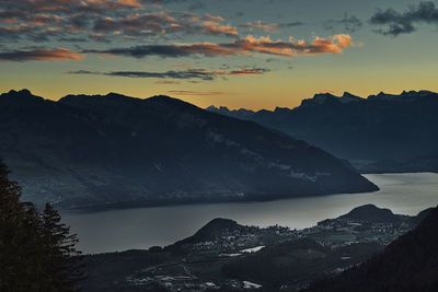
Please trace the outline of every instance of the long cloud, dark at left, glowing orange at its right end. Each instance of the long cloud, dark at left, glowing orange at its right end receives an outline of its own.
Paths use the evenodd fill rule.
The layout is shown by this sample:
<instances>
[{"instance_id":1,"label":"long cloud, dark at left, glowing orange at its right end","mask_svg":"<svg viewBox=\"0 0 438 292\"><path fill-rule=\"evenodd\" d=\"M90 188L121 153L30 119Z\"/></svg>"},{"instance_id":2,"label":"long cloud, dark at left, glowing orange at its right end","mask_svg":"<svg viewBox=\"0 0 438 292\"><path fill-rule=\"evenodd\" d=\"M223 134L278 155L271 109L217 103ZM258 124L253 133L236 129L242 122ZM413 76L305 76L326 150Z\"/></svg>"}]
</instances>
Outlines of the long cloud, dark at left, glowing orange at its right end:
<instances>
[{"instance_id":1,"label":"long cloud, dark at left, glowing orange at its right end","mask_svg":"<svg viewBox=\"0 0 438 292\"><path fill-rule=\"evenodd\" d=\"M289 42L273 42L269 37L254 38L253 36L246 36L245 38L235 39L232 43L226 44L195 43L187 45L148 45L129 48L85 49L81 52L135 58L148 56L186 57L193 55L214 57L250 55L254 52L297 57L298 55L341 54L345 48L351 46L354 46L351 37L345 34L334 35L328 38L315 37L312 43L293 39Z\"/></svg>"}]
</instances>

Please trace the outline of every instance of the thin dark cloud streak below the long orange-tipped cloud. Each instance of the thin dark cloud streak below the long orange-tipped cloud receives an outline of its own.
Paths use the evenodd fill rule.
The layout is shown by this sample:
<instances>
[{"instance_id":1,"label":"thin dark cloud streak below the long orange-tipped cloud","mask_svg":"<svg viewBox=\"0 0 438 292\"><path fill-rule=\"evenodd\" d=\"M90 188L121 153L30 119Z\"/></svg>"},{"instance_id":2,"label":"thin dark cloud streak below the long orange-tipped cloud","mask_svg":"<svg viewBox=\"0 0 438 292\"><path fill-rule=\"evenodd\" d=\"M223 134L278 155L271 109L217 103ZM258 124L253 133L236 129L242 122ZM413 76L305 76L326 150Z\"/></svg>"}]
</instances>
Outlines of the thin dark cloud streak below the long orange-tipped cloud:
<instances>
[{"instance_id":1,"label":"thin dark cloud streak below the long orange-tipped cloud","mask_svg":"<svg viewBox=\"0 0 438 292\"><path fill-rule=\"evenodd\" d=\"M184 71L165 71L165 72L146 72L146 71L113 71L113 72L95 72L87 70L78 70L66 72L66 74L93 74L93 75L110 75L110 77L126 77L126 78L154 78L154 79L199 79L204 81L211 81L218 77L232 77L232 75L261 75L269 72L265 68L242 68L232 71L207 71L204 69L193 69Z\"/></svg>"}]
</instances>

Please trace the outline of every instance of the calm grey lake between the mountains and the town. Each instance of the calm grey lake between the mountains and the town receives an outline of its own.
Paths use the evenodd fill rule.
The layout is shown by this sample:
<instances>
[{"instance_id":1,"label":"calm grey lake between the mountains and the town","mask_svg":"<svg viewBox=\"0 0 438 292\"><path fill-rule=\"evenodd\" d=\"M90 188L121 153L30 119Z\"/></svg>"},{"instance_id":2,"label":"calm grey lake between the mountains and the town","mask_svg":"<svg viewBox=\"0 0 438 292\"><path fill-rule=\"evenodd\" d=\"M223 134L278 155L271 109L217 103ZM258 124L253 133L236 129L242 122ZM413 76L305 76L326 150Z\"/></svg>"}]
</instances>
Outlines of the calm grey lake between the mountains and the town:
<instances>
[{"instance_id":1,"label":"calm grey lake between the mountains and the town","mask_svg":"<svg viewBox=\"0 0 438 292\"><path fill-rule=\"evenodd\" d=\"M438 205L438 174L365 176L378 185L380 190L268 202L185 205L92 213L62 212L62 219L72 232L78 233L79 248L87 254L94 254L169 245L193 235L215 218L233 219L244 225L279 224L303 229L366 203L410 215Z\"/></svg>"}]
</instances>

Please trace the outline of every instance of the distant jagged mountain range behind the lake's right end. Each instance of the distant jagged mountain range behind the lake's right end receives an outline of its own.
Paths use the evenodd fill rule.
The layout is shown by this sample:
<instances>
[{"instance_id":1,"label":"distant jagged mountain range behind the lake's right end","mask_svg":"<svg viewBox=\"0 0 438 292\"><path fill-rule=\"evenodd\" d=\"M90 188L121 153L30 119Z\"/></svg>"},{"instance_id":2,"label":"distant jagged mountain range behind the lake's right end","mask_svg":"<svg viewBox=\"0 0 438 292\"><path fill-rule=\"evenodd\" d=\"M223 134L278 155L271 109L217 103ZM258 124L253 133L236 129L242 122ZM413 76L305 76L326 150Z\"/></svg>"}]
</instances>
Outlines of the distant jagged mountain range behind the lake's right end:
<instances>
[{"instance_id":1,"label":"distant jagged mountain range behind the lake's right end","mask_svg":"<svg viewBox=\"0 0 438 292\"><path fill-rule=\"evenodd\" d=\"M438 94L316 94L293 108L208 110L256 121L350 160L364 172L438 171ZM368 165L369 164L369 165Z\"/></svg>"}]
</instances>

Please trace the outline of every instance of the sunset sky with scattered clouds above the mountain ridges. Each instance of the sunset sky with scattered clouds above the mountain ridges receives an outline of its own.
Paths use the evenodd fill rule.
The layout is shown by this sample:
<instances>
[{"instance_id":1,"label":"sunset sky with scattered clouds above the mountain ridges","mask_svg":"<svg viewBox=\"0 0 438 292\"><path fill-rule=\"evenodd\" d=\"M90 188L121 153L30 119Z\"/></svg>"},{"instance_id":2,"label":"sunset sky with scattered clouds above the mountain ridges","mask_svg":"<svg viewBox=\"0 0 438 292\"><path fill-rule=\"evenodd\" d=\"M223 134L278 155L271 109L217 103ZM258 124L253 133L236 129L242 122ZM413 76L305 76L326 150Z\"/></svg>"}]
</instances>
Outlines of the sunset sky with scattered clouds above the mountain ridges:
<instances>
[{"instance_id":1,"label":"sunset sky with scattered clouds above the mountain ridges","mask_svg":"<svg viewBox=\"0 0 438 292\"><path fill-rule=\"evenodd\" d=\"M438 0L0 0L0 92L200 107L438 91Z\"/></svg>"}]
</instances>

